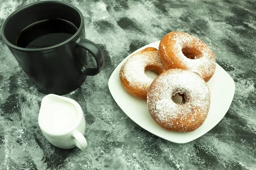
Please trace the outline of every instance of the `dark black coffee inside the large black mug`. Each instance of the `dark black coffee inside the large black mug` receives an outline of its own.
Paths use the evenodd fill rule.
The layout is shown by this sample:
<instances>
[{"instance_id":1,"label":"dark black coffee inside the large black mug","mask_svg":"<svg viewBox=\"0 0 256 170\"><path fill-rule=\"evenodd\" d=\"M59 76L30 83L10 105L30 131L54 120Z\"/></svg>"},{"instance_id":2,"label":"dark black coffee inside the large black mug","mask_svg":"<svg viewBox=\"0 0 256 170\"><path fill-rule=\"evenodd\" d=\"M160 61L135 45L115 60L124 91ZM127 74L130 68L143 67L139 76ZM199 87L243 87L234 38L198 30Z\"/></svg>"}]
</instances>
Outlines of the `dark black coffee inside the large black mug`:
<instances>
[{"instance_id":1,"label":"dark black coffee inside the large black mug","mask_svg":"<svg viewBox=\"0 0 256 170\"><path fill-rule=\"evenodd\" d=\"M66 20L42 20L24 28L16 38L22 48L46 48L69 39L76 33L76 26Z\"/></svg>"}]
</instances>

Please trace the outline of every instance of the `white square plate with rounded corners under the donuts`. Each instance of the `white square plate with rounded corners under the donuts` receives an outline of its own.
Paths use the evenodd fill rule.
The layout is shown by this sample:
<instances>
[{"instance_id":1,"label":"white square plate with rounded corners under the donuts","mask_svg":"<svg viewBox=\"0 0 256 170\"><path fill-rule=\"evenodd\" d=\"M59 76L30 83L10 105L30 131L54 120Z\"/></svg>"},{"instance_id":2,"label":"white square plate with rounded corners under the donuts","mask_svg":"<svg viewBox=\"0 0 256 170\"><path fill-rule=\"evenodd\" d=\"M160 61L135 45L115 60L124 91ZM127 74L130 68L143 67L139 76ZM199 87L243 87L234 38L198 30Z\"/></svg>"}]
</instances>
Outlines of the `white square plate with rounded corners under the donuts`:
<instances>
[{"instance_id":1,"label":"white square plate with rounded corners under the donuts","mask_svg":"<svg viewBox=\"0 0 256 170\"><path fill-rule=\"evenodd\" d=\"M132 54L141 51L146 47L154 47L158 49L159 42L160 41L145 45L144 47L134 51ZM211 92L211 105L207 119L204 121L203 125L195 131L188 133L170 132L163 129L151 118L146 101L137 99L122 87L119 79L119 71L125 60L132 54L126 57L113 71L108 81L108 88L113 99L122 111L124 111L130 119L148 132L171 142L187 143L199 138L211 130L227 113L235 93L235 83L230 75L221 68L221 66L216 64L215 73L209 82L207 82Z\"/></svg>"}]
</instances>

